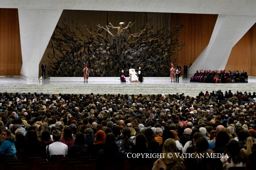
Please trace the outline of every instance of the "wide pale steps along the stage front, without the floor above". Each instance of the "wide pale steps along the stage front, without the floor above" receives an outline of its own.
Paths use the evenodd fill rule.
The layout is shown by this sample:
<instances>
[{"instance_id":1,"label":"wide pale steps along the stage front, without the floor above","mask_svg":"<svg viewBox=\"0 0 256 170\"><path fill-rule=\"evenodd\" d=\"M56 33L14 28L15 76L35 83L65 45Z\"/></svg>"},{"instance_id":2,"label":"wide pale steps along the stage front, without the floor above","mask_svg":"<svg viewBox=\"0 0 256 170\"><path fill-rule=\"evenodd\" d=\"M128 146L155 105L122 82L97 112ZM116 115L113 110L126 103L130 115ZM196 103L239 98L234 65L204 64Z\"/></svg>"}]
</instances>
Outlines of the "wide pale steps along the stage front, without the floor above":
<instances>
[{"instance_id":1,"label":"wide pale steps along the stage front, without the floor above","mask_svg":"<svg viewBox=\"0 0 256 170\"><path fill-rule=\"evenodd\" d=\"M178 84L178 83L168 83L168 84L141 84L141 83L129 83L129 84L62 84L62 85L17 85L17 84L0 84L0 92L8 93L50 93L50 94L176 94L184 93L189 96L196 96L199 92L203 90L209 93L221 90L223 93L225 91L231 90L235 93L236 91L255 92L255 84L242 84L242 83L229 83L229 84L207 84L207 83L191 83L191 84Z\"/></svg>"}]
</instances>

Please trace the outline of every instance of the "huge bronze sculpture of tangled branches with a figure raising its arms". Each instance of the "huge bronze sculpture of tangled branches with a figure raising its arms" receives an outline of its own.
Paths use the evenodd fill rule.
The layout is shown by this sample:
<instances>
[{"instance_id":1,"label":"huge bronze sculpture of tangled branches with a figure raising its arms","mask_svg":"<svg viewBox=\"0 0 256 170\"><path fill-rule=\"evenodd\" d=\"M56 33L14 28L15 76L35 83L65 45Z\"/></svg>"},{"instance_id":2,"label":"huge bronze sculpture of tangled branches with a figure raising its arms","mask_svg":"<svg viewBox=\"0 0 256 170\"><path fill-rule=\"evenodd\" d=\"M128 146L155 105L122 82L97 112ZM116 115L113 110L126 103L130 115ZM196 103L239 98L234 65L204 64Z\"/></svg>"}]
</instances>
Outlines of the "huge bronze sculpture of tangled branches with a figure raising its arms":
<instances>
[{"instance_id":1,"label":"huge bronze sculpture of tangled branches with a figure raising its arms","mask_svg":"<svg viewBox=\"0 0 256 170\"><path fill-rule=\"evenodd\" d=\"M170 63L175 62L172 56L184 45L177 39L183 25L156 29L147 23L132 32L134 23L76 24L79 34L70 31L66 22L64 27L57 26L46 60L51 76L81 77L83 63L93 77L118 77L121 70L139 67L146 77L169 76Z\"/></svg>"}]
</instances>

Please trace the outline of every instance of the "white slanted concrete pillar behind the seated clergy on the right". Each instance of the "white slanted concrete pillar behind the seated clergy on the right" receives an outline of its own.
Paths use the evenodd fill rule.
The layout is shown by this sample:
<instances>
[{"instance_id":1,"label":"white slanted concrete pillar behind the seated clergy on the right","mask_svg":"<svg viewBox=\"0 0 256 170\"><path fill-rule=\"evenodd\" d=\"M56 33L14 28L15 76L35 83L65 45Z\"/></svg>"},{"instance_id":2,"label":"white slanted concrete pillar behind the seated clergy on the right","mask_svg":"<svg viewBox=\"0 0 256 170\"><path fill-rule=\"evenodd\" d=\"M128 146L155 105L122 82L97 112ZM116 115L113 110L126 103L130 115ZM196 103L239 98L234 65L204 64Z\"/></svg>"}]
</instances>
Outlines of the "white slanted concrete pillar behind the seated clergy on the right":
<instances>
[{"instance_id":1,"label":"white slanted concrete pillar behind the seated clergy on the right","mask_svg":"<svg viewBox=\"0 0 256 170\"><path fill-rule=\"evenodd\" d=\"M232 48L256 22L255 16L219 15L209 44L190 66L196 70L224 70Z\"/></svg>"}]
</instances>

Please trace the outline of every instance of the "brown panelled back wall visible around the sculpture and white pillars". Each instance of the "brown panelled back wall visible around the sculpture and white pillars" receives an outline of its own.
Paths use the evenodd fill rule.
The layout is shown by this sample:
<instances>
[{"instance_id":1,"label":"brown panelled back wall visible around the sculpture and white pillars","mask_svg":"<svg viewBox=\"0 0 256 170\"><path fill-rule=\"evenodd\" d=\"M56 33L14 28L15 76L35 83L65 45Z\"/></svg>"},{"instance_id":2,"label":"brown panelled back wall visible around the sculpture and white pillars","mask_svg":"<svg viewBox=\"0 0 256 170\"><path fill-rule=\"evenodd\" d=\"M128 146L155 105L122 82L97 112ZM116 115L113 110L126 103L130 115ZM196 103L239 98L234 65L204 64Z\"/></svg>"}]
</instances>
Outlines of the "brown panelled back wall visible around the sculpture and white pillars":
<instances>
[{"instance_id":1,"label":"brown panelled back wall visible around the sculpture and white pillars","mask_svg":"<svg viewBox=\"0 0 256 170\"><path fill-rule=\"evenodd\" d=\"M102 26L111 21L112 24L116 25L120 22L121 15L123 15L123 18L125 19L126 16L129 16L128 13L108 11L108 17L106 17L107 11L64 10L58 25L62 26L62 21L64 21L64 18L70 26L70 29L73 29L71 26L73 21L80 22L80 20L81 23L92 23L95 21L95 23L99 23ZM131 16L133 15L132 13L133 12L131 12ZM136 18L134 29L138 29L139 26L136 24L139 24L140 20L147 21L148 16L150 15L158 15L158 17L161 18L160 15L162 15L161 13L146 13L148 15L142 14L140 17L134 16ZM193 63L196 60L197 56L200 55L202 50L209 43L218 15L188 13L168 14L170 19L164 20L163 22L171 23L172 26L184 24L184 27L180 31L179 40L185 43L185 46L177 55L175 55L177 63L180 63L180 65L183 66L184 63L187 62L187 64L190 65L190 63ZM112 18L117 19L116 21L113 21ZM88 19L90 21L88 21ZM129 18L123 21L128 23L130 20L131 19ZM151 20L159 22L159 19ZM1 8L0 22L0 76L18 76L20 75L20 69L22 65L18 9ZM76 31L76 29L73 29L73 31ZM256 26L254 25L232 49L225 69L239 71L245 69L248 75L256 76L256 70L253 69L256 57L255 48ZM42 62L47 59L47 52L48 51L46 49L40 64L42 64ZM38 66L38 69L39 75L41 75L40 66ZM181 74L183 74L183 70Z\"/></svg>"}]
</instances>

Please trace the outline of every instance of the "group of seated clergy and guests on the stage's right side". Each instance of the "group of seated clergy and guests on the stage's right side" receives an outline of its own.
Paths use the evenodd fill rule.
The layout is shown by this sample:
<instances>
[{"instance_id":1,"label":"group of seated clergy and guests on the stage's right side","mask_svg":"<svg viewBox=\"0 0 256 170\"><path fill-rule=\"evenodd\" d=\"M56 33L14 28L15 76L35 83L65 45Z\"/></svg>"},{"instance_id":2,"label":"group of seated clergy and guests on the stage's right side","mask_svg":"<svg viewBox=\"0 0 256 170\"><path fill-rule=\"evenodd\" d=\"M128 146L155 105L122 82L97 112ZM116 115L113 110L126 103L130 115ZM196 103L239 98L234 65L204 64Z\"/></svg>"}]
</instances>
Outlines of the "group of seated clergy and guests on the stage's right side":
<instances>
[{"instance_id":1,"label":"group of seated clergy and guests on the stage's right side","mask_svg":"<svg viewBox=\"0 0 256 170\"><path fill-rule=\"evenodd\" d=\"M225 70L196 70L196 73L190 78L190 82L201 83L248 83L247 72L225 71ZM219 82L218 82L219 80Z\"/></svg>"}]
</instances>

